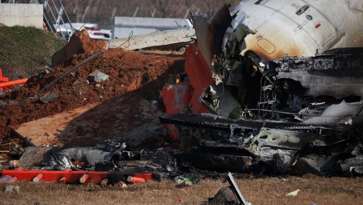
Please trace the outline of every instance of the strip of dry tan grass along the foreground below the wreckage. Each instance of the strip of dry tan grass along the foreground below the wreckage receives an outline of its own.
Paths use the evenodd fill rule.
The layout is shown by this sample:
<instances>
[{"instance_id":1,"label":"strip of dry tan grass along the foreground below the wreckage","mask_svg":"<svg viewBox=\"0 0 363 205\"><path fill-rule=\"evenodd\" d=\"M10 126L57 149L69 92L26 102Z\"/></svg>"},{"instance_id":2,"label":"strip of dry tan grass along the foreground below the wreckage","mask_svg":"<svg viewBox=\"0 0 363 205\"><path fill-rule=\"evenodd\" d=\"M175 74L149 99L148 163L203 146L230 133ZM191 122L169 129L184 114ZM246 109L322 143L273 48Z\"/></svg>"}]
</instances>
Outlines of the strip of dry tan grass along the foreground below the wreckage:
<instances>
[{"instance_id":1,"label":"strip of dry tan grass along the foreground below the wreckage","mask_svg":"<svg viewBox=\"0 0 363 205\"><path fill-rule=\"evenodd\" d=\"M363 178L317 177L253 178L237 180L242 194L252 204L362 204ZM0 192L1 204L203 204L228 186L221 180L203 180L198 185L176 188L174 181L120 186L63 185L50 182L16 182L19 193ZM4 184L0 189L4 189ZM300 189L295 197L285 196ZM281 195L277 195L281 194ZM181 199L181 202L179 202Z\"/></svg>"}]
</instances>

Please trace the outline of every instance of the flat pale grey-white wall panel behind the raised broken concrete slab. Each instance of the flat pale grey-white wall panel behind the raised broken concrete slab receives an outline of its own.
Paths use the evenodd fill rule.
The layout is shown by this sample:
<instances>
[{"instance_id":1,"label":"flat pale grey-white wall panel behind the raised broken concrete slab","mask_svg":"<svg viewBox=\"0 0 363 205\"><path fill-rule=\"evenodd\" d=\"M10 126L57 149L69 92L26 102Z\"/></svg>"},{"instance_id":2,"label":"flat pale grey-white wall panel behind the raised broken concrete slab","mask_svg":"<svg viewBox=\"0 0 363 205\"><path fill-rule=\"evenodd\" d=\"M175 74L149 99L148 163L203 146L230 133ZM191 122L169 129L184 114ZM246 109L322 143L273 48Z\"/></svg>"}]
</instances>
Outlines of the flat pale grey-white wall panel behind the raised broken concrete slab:
<instances>
[{"instance_id":1,"label":"flat pale grey-white wall panel behind the raised broken concrete slab","mask_svg":"<svg viewBox=\"0 0 363 205\"><path fill-rule=\"evenodd\" d=\"M193 25L188 19L148 18L115 16L113 25L113 39L128 38L132 35L147 34L154 31L164 31L178 28L191 28Z\"/></svg>"}]
</instances>

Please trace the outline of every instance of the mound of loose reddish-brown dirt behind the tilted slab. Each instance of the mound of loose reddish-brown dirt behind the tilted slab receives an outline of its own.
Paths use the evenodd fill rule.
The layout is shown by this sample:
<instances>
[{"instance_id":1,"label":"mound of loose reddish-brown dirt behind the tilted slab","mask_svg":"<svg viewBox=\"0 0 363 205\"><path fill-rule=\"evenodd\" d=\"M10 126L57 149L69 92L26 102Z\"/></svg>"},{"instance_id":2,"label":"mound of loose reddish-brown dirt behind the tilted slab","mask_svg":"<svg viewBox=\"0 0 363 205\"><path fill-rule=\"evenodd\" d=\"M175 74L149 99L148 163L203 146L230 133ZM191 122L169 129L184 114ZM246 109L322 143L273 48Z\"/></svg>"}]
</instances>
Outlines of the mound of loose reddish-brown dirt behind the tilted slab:
<instances>
[{"instance_id":1,"label":"mound of loose reddish-brown dirt behind the tilted slab","mask_svg":"<svg viewBox=\"0 0 363 205\"><path fill-rule=\"evenodd\" d=\"M169 75L182 72L185 64L182 56L111 49L77 68L42 94L56 93L58 96L54 102L44 104L39 98L28 99L94 52L74 55L68 60L69 65L58 66L45 75L32 76L24 87L0 98L25 99L23 103L0 107L0 139L1 136L11 137L12 126L81 107L87 103L102 102L130 91L138 92L147 100L157 100L160 107L163 103L159 91ZM84 82L87 75L96 70L109 75L109 78L102 82L79 83Z\"/></svg>"}]
</instances>

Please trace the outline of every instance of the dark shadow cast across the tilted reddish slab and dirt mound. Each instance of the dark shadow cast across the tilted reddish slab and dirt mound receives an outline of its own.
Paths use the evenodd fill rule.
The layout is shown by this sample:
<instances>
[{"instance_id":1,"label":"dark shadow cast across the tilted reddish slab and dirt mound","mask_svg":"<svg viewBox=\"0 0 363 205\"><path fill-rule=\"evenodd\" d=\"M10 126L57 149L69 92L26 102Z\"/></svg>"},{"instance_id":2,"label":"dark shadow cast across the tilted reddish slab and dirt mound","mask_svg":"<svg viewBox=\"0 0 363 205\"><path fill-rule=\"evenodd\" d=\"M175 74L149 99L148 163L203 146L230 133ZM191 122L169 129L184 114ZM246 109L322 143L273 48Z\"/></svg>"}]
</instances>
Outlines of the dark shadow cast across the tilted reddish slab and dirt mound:
<instances>
[{"instance_id":1,"label":"dark shadow cast across the tilted reddish slab and dirt mound","mask_svg":"<svg viewBox=\"0 0 363 205\"><path fill-rule=\"evenodd\" d=\"M158 119L161 110L148 101L157 100L159 107L163 107L159 92L170 75L184 71L184 62L176 60L157 79L106 100L68 121L64 130L58 130L57 141L69 147L95 146L113 139L134 148L141 144L146 148L155 148L155 138L163 134L164 129ZM142 83L146 78L142 78Z\"/></svg>"}]
</instances>

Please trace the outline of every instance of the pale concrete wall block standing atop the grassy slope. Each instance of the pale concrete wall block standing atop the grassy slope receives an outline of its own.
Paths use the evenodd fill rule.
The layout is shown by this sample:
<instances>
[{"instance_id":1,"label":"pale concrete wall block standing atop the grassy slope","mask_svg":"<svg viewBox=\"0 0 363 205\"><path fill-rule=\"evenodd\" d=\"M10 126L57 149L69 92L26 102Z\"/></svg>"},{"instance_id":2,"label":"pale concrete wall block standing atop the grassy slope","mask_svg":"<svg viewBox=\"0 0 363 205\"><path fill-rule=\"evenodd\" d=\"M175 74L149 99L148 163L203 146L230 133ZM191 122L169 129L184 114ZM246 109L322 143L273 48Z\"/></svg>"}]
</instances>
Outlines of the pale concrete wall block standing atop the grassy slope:
<instances>
[{"instance_id":1,"label":"pale concrete wall block standing atop the grassy slope","mask_svg":"<svg viewBox=\"0 0 363 205\"><path fill-rule=\"evenodd\" d=\"M0 23L43 28L43 4L0 4Z\"/></svg>"}]
</instances>

